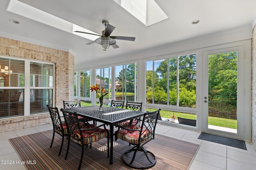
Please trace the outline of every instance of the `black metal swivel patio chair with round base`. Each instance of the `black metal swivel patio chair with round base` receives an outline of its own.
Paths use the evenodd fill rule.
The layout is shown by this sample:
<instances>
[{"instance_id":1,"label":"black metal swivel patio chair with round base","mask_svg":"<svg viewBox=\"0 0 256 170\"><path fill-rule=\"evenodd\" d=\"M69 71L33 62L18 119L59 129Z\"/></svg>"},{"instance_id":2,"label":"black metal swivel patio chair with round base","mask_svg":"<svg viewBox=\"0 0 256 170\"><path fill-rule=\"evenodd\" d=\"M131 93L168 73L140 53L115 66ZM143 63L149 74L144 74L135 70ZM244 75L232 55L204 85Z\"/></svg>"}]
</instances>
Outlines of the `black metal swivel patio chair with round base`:
<instances>
[{"instance_id":1,"label":"black metal swivel patio chair with round base","mask_svg":"<svg viewBox=\"0 0 256 170\"><path fill-rule=\"evenodd\" d=\"M130 125L128 127L123 127L117 125L118 130L115 132L115 140L121 139L135 145L132 149L127 150L122 155L122 160L127 166L135 169L148 169L156 164L156 156L152 152L145 150L143 146L155 137L156 123L160 110L161 109L154 112L144 113L143 119L138 119L142 122L141 126ZM145 162L145 166L142 165L144 163L141 162L142 160L138 160L138 166L135 165L136 163L133 164L138 151L143 152L148 160L148 162ZM133 156L125 156L126 154L132 154L133 152ZM131 157L132 159L130 159ZM140 157L138 158L142 159L142 154L140 154Z\"/></svg>"}]
</instances>

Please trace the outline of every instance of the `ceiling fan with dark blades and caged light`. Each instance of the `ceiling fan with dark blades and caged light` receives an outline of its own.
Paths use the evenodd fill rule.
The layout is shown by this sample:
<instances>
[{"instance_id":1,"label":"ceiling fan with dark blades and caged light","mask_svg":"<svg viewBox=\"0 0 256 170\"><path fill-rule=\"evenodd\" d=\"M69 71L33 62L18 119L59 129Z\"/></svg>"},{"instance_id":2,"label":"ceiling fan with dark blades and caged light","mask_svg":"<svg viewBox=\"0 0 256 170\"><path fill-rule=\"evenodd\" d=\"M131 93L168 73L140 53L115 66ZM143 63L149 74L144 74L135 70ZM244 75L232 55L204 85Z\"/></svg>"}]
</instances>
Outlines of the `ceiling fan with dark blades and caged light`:
<instances>
[{"instance_id":1,"label":"ceiling fan with dark blades and caged light","mask_svg":"<svg viewBox=\"0 0 256 170\"><path fill-rule=\"evenodd\" d=\"M102 45L102 47L104 49L108 49L110 47L110 45L114 49L119 48L118 45L116 45L116 40L115 39L121 39L121 40L126 40L126 41L135 41L135 37L110 36L112 31L114 31L114 29L116 27L110 25L108 21L102 21L102 25L105 26L105 29L102 31L102 35L98 35L98 34L94 34L94 33L86 33L86 32L82 32L82 31L74 31L74 32L86 33L86 34L90 34L90 35L99 36L100 38L97 38L96 40L91 41L91 42L87 43L86 45L91 45L93 43L97 43L97 44Z\"/></svg>"}]
</instances>

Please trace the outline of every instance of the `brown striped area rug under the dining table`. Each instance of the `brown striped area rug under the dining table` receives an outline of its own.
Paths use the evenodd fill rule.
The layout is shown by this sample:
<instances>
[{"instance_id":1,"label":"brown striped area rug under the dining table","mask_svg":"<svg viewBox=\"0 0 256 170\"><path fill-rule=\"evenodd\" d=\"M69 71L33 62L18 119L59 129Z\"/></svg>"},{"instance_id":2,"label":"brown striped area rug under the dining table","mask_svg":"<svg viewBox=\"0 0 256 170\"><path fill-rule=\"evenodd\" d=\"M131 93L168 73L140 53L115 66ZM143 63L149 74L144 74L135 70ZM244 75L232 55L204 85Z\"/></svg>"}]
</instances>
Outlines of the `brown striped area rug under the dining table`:
<instances>
[{"instance_id":1,"label":"brown striped area rug under the dining table","mask_svg":"<svg viewBox=\"0 0 256 170\"><path fill-rule=\"evenodd\" d=\"M34 133L22 137L9 139L10 143L23 161L31 161L25 164L28 170L76 170L78 168L81 147L70 142L70 149L67 160L64 156L67 148L67 140L64 141L62 153L58 156L61 137L56 134L52 148L52 130ZM92 148L84 148L82 162L83 170L129 170L122 162L122 154L132 146L128 143L117 140L114 143L113 164L109 164L107 158L106 139L92 143ZM187 170L194 158L199 145L186 141L156 134L154 140L144 145L146 150L153 152L157 162L152 170ZM136 160L143 162L142 156L136 156ZM36 163L33 164L33 161ZM142 162L136 162L138 164Z\"/></svg>"}]
</instances>

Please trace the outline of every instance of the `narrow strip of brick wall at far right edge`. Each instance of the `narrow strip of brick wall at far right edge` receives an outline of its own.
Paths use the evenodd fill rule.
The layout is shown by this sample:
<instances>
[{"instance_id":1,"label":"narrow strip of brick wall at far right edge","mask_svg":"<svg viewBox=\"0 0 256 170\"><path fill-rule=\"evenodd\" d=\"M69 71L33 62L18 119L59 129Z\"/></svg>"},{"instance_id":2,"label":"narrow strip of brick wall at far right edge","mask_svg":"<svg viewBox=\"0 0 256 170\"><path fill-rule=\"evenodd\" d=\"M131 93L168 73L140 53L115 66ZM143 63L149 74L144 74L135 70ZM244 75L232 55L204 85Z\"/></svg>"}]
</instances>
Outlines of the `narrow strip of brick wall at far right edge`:
<instances>
[{"instance_id":1,"label":"narrow strip of brick wall at far right edge","mask_svg":"<svg viewBox=\"0 0 256 170\"><path fill-rule=\"evenodd\" d=\"M256 150L256 27L252 34L252 144Z\"/></svg>"}]
</instances>

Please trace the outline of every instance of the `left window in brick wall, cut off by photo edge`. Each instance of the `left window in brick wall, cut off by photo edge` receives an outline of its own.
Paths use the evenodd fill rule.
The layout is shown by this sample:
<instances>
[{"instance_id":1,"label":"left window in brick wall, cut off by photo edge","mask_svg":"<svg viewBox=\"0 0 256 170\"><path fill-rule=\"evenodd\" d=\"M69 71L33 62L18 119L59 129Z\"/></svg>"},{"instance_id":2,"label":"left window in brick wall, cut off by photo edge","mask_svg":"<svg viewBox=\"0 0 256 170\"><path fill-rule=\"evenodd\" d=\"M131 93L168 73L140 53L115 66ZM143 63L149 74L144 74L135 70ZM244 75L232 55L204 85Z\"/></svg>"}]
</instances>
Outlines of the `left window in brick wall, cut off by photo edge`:
<instances>
[{"instance_id":1,"label":"left window in brick wall, cut off by photo edge","mask_svg":"<svg viewBox=\"0 0 256 170\"><path fill-rule=\"evenodd\" d=\"M25 62L0 58L0 118L24 115Z\"/></svg>"}]
</instances>

